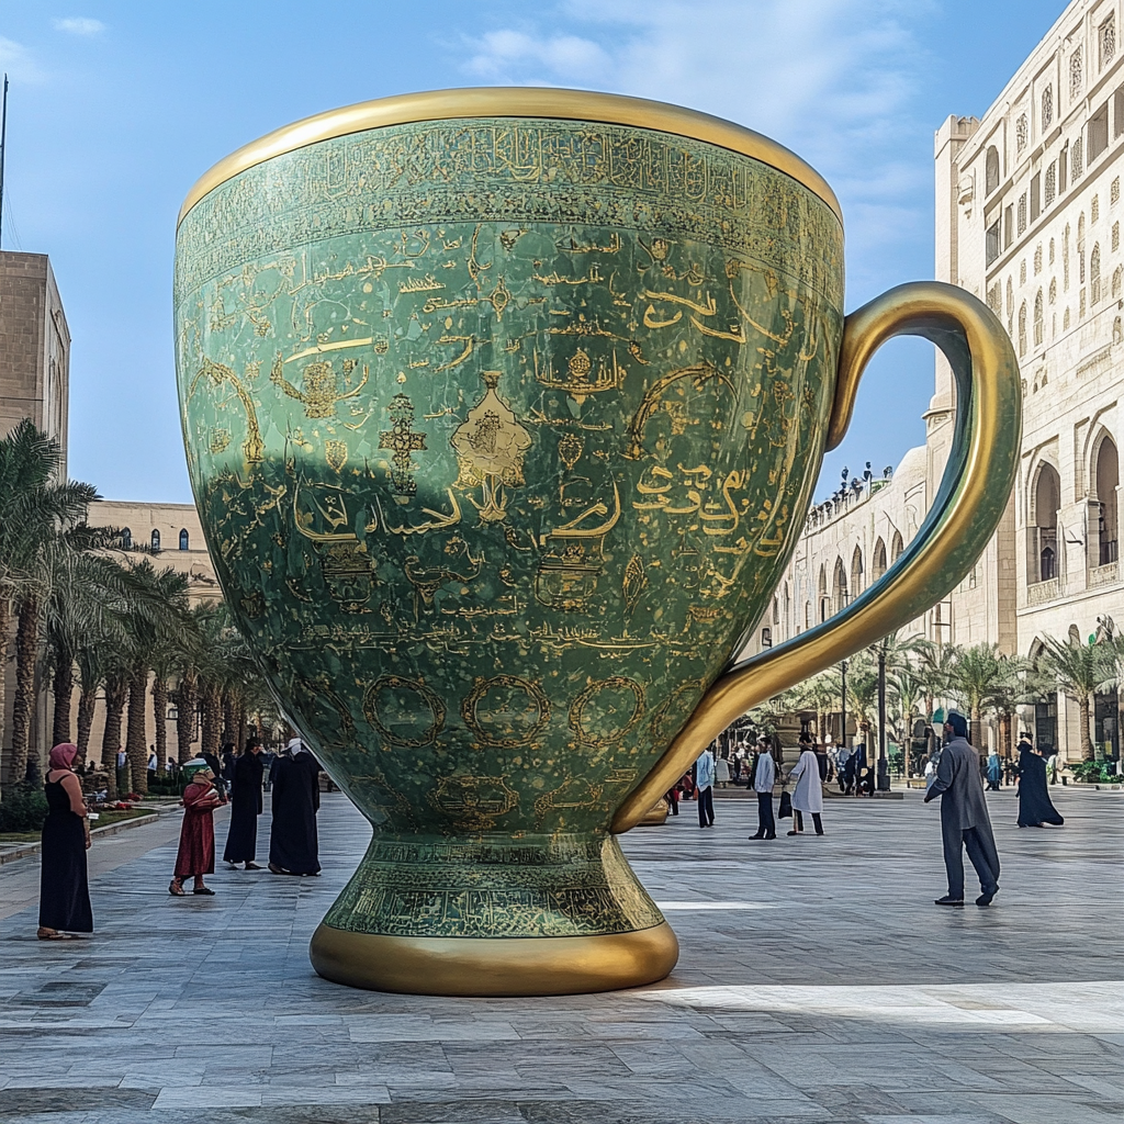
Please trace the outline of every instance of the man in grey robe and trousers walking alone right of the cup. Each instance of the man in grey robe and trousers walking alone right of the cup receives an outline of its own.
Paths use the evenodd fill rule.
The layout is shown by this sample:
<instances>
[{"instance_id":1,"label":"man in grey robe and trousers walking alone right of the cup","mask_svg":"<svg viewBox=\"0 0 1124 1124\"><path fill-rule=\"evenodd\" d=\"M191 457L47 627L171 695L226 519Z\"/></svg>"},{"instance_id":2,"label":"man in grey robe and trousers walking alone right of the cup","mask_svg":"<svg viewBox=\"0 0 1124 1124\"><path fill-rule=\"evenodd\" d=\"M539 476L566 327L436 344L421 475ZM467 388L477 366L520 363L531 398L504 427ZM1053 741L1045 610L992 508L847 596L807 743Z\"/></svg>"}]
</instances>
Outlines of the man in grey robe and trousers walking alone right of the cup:
<instances>
[{"instance_id":1,"label":"man in grey robe and trousers walking alone right of the cup","mask_svg":"<svg viewBox=\"0 0 1124 1124\"><path fill-rule=\"evenodd\" d=\"M963 906L963 851L967 851L982 891L976 905L989 906L999 892L999 853L984 799L979 754L968 743L968 719L962 714L949 713L944 735L948 742L941 752L936 779L925 794L926 804L941 797L941 835L949 872L949 892L937 898L936 905Z\"/></svg>"}]
</instances>

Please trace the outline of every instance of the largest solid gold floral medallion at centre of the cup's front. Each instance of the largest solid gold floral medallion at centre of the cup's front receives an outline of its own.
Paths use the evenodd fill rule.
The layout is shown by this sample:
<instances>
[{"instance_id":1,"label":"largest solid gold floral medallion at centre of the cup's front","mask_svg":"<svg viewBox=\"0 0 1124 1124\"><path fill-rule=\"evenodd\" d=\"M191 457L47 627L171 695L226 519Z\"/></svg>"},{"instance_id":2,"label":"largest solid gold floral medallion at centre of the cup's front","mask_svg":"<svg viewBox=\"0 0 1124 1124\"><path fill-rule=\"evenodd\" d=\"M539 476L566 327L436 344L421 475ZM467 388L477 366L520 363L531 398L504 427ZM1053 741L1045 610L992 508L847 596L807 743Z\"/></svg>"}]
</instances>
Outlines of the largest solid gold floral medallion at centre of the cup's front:
<instances>
[{"instance_id":1,"label":"largest solid gold floral medallion at centre of the cup's front","mask_svg":"<svg viewBox=\"0 0 1124 1124\"><path fill-rule=\"evenodd\" d=\"M481 373L488 390L451 438L461 468L457 484L481 490L479 502L469 497L480 513L481 523L507 518L505 489L525 483L523 461L531 448L531 434L496 393L500 374L501 371Z\"/></svg>"}]
</instances>

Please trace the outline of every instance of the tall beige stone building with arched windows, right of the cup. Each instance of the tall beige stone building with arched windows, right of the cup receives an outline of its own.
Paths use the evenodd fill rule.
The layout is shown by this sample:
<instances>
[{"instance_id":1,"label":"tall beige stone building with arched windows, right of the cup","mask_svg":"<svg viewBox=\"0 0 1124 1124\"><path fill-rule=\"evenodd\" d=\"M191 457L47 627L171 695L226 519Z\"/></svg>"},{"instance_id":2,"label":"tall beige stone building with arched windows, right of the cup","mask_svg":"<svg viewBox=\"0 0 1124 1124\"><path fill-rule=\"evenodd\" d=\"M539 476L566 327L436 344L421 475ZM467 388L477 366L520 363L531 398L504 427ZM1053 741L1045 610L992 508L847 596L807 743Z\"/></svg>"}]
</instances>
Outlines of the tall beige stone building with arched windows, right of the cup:
<instances>
[{"instance_id":1,"label":"tall beige stone building with arched windows, right of the cup","mask_svg":"<svg viewBox=\"0 0 1124 1124\"><path fill-rule=\"evenodd\" d=\"M1033 658L1043 635L1087 641L1105 617L1124 625L1122 18L1121 0L1075 0L981 119L950 117L936 133L935 275L999 315L1022 369L1024 420L998 532L960 587L910 626L933 641ZM940 356L935 382L926 443L892 480L863 481L810 514L758 644L761 628L777 643L830 615L916 533L952 433ZM1116 695L1096 704L1094 741L1118 751ZM1041 743L1079 755L1077 705L1063 695L1023 719Z\"/></svg>"}]
</instances>

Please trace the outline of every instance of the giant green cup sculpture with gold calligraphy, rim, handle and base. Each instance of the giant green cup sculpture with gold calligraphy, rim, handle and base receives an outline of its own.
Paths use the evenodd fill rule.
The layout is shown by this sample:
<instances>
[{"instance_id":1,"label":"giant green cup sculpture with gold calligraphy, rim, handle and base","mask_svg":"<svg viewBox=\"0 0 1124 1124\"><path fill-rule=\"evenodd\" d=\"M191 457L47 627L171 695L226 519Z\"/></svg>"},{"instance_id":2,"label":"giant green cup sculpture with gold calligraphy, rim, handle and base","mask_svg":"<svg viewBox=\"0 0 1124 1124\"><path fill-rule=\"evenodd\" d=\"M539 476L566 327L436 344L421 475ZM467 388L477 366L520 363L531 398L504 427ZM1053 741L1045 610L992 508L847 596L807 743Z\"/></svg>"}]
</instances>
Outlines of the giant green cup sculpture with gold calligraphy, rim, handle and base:
<instances>
[{"instance_id":1,"label":"giant green cup sculpture with gold calligraphy, rim, handle and base","mask_svg":"<svg viewBox=\"0 0 1124 1124\"><path fill-rule=\"evenodd\" d=\"M374 830L311 945L357 987L665 976L615 834L746 707L944 596L1013 480L995 317L931 282L844 320L827 184L672 106L459 90L301 121L192 190L174 299L230 611ZM957 375L927 522L843 614L732 665L899 333Z\"/></svg>"}]
</instances>

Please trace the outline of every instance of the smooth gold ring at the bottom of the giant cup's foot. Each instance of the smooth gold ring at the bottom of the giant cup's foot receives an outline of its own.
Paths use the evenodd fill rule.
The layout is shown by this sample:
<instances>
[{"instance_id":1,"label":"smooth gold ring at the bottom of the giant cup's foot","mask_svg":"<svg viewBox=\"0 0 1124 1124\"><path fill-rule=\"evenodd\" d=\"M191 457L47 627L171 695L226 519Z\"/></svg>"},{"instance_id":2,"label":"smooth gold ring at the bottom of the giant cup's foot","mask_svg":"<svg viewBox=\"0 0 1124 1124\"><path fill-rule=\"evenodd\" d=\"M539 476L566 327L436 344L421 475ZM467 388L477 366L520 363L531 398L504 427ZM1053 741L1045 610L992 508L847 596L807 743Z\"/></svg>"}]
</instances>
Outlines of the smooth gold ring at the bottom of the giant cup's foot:
<instances>
[{"instance_id":1,"label":"smooth gold ring at the bottom of the giant cup's foot","mask_svg":"<svg viewBox=\"0 0 1124 1124\"><path fill-rule=\"evenodd\" d=\"M309 946L327 980L411 995L534 996L615 991L662 980L679 942L664 922L602 936L409 937L320 925Z\"/></svg>"}]
</instances>

